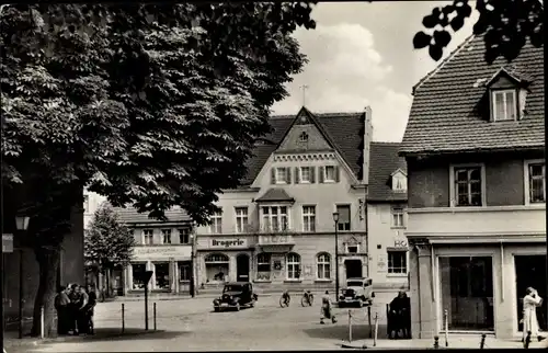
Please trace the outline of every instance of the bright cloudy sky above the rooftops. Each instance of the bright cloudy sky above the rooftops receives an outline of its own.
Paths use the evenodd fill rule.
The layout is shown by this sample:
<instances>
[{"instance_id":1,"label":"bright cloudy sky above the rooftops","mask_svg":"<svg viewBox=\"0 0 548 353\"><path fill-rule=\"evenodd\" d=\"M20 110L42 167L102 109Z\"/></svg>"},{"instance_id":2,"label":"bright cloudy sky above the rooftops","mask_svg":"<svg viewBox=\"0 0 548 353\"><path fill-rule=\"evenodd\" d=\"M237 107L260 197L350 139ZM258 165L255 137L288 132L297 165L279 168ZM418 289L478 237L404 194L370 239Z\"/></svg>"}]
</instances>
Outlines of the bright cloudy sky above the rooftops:
<instances>
[{"instance_id":1,"label":"bright cloudy sky above the rooftops","mask_svg":"<svg viewBox=\"0 0 548 353\"><path fill-rule=\"evenodd\" d=\"M315 113L362 112L369 105L373 139L401 141L412 87L472 33L476 10L453 35L438 62L430 58L427 48L413 49L413 36L423 30L422 18L452 2L318 3L312 10L316 30L299 29L294 34L309 62L287 84L290 95L277 102L273 113L297 114L302 105ZM305 96L304 84L308 86Z\"/></svg>"}]
</instances>

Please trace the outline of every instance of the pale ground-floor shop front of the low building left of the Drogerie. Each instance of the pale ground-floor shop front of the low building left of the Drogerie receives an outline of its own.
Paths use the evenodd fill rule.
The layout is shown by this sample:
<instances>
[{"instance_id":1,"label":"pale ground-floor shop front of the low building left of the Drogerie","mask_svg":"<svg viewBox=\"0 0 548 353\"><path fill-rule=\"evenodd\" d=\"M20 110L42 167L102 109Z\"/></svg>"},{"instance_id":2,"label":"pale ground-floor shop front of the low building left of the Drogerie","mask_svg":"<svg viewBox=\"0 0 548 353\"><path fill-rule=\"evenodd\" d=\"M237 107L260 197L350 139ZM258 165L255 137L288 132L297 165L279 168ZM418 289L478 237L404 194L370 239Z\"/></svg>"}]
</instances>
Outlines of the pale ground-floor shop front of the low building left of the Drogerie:
<instances>
[{"instance_id":1,"label":"pale ground-floor shop front of the low building left of the Drogerie","mask_svg":"<svg viewBox=\"0 0 548 353\"><path fill-rule=\"evenodd\" d=\"M145 272L152 271L150 291L183 293L190 289L191 269L190 244L135 247L125 270L126 291L144 291Z\"/></svg>"}]
</instances>

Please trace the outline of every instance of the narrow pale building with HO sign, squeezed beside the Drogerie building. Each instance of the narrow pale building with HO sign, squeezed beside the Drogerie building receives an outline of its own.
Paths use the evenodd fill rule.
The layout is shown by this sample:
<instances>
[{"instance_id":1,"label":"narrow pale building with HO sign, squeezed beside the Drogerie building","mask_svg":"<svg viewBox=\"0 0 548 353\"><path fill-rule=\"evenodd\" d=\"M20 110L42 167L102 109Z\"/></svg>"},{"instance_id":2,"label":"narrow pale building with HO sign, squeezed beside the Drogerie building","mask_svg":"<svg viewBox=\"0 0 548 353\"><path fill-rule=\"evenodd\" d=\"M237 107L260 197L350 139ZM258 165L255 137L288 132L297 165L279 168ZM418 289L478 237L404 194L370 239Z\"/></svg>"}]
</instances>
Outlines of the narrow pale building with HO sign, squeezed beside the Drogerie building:
<instances>
[{"instance_id":1,"label":"narrow pale building with HO sign, squeezed beside the Drogerie building","mask_svg":"<svg viewBox=\"0 0 548 353\"><path fill-rule=\"evenodd\" d=\"M407 164L398 143L370 143L367 186L369 276L375 289L408 289Z\"/></svg>"}]
</instances>

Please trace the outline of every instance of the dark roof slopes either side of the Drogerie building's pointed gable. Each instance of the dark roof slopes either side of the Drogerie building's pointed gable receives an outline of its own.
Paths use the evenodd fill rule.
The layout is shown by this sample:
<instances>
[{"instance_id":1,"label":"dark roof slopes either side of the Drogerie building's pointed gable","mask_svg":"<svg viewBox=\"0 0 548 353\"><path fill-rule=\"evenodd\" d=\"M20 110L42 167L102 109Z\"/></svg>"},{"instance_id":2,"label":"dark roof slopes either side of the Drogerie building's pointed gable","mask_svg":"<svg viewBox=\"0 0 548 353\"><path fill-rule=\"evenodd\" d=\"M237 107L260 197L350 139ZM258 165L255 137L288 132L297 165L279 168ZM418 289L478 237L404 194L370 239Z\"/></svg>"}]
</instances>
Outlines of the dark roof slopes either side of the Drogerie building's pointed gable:
<instances>
[{"instance_id":1,"label":"dark roof slopes either side of the Drogerie building's pointed gable","mask_svg":"<svg viewBox=\"0 0 548 353\"><path fill-rule=\"evenodd\" d=\"M309 111L307 111L309 112ZM331 144L341 153L357 179L361 179L363 168L364 118L361 113L311 113L321 126L322 134L329 136ZM253 157L247 161L248 174L242 185L250 185L263 168L269 157L276 150L279 143L293 126L296 115L274 115L270 118L273 130L265 136L261 145L253 149Z\"/></svg>"}]
</instances>

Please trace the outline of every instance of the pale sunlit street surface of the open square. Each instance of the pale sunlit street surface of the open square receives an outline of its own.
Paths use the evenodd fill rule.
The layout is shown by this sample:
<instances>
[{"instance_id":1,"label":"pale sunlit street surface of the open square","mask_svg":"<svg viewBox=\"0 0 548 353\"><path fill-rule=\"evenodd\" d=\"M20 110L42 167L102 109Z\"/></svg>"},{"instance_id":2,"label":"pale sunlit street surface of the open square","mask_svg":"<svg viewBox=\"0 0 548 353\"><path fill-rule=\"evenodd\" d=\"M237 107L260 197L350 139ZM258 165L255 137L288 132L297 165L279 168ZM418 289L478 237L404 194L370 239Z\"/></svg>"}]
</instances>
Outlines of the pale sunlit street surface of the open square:
<instances>
[{"instance_id":1,"label":"pale sunlit street surface of the open square","mask_svg":"<svg viewBox=\"0 0 548 353\"><path fill-rule=\"evenodd\" d=\"M392 294L387 295L390 299ZM78 341L45 343L34 352L105 352L105 351L204 351L204 350L333 350L347 338L347 309L335 309L335 324L320 324L318 298L312 307L301 307L300 297L292 297L289 308L281 308L278 296L263 296L256 306L241 311L214 312L212 298L157 301L158 332L127 334L115 338L87 338ZM378 298L372 317L384 312L386 300ZM98 332L122 327L122 304L96 307ZM144 301L125 303L126 331L144 329ZM149 305L153 330L152 303ZM369 334L367 311L353 309L354 339ZM384 317L384 315L383 315ZM381 318L381 320L384 320Z\"/></svg>"}]
</instances>

